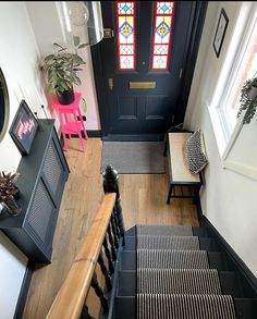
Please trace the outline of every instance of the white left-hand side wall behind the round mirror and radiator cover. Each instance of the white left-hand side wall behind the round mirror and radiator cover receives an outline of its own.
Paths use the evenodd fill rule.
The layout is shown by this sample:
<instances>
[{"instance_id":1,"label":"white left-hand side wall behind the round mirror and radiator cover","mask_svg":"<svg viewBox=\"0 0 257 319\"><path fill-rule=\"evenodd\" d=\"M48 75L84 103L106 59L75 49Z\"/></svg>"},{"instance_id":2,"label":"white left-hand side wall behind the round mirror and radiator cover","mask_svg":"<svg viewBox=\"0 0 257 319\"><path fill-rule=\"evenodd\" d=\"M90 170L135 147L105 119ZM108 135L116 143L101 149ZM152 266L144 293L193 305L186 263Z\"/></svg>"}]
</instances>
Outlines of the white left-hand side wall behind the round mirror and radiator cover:
<instances>
[{"instance_id":1,"label":"white left-hand side wall behind the round mirror and radiator cover","mask_svg":"<svg viewBox=\"0 0 257 319\"><path fill-rule=\"evenodd\" d=\"M40 115L38 49L24 2L0 2L0 66L10 95L10 122L25 98ZM16 170L21 155L9 133L0 143L0 170ZM0 317L13 318L27 258L0 233Z\"/></svg>"}]
</instances>

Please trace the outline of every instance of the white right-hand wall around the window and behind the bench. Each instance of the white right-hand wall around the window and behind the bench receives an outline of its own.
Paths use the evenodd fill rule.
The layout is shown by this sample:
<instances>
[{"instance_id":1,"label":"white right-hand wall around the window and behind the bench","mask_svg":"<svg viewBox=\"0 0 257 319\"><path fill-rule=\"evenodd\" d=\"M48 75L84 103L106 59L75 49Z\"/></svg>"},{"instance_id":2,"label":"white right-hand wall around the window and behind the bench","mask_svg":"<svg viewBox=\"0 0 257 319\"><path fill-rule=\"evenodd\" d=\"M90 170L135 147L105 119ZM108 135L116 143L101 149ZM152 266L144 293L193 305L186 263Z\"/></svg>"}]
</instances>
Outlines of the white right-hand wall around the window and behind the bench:
<instances>
[{"instance_id":1,"label":"white right-hand wall around the window and behind the bench","mask_svg":"<svg viewBox=\"0 0 257 319\"><path fill-rule=\"evenodd\" d=\"M257 182L232 170L224 170L217 140L212 130L207 106L210 103L220 71L224 63L231 33L243 2L209 2L204 27L200 53L188 100L185 126L201 128L205 136L209 164L205 170L206 185L201 188L200 200L204 214L243 259L252 272L257 275ZM220 9L224 8L229 16L229 25L221 54L217 59L212 40L218 23ZM257 156L256 121L248 126L247 133L237 139L230 157L242 162L242 154ZM246 138L246 136L252 138ZM253 136L255 136L254 144ZM254 147L253 147L254 146ZM250 160L249 160L250 161Z\"/></svg>"}]
</instances>

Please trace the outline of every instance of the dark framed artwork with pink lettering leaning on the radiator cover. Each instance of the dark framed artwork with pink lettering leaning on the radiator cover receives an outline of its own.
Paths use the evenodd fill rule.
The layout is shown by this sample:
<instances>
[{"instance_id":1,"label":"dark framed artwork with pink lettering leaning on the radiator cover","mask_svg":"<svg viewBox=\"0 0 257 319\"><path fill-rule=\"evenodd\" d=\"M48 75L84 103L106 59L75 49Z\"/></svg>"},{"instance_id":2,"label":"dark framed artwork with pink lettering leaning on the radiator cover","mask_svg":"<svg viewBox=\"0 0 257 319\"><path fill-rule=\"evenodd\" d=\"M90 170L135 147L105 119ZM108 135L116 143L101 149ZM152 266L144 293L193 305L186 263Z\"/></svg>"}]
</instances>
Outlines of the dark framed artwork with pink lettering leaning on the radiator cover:
<instances>
[{"instance_id":1,"label":"dark framed artwork with pink lettering leaning on the radiator cover","mask_svg":"<svg viewBox=\"0 0 257 319\"><path fill-rule=\"evenodd\" d=\"M9 131L22 155L29 154L37 128L36 118L26 101L22 100Z\"/></svg>"}]
</instances>

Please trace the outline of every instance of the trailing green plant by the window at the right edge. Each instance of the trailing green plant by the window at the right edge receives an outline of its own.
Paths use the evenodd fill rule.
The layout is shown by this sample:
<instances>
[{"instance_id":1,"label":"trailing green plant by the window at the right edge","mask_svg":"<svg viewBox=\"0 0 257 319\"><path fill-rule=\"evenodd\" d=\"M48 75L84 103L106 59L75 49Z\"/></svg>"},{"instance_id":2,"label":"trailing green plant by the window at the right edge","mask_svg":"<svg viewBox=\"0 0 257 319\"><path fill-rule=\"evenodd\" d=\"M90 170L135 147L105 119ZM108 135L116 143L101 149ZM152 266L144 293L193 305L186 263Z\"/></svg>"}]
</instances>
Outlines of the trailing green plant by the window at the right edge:
<instances>
[{"instance_id":1,"label":"trailing green plant by the window at the right edge","mask_svg":"<svg viewBox=\"0 0 257 319\"><path fill-rule=\"evenodd\" d=\"M241 90L241 107L237 113L237 118L243 111L246 110L243 119L243 124L249 124L254 118L257 109L257 77L247 79Z\"/></svg>"}]
</instances>

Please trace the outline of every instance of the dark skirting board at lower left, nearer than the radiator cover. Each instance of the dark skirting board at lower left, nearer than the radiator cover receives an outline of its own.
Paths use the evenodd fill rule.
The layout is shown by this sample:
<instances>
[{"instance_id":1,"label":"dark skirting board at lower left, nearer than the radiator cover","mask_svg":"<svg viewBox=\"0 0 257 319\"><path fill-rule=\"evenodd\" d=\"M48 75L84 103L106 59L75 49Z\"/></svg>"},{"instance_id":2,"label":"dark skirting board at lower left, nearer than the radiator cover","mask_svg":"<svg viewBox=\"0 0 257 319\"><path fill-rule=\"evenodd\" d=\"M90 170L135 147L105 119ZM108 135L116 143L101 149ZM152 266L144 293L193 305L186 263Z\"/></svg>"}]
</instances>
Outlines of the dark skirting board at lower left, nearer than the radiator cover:
<instances>
[{"instance_id":1,"label":"dark skirting board at lower left, nearer than the radiator cover","mask_svg":"<svg viewBox=\"0 0 257 319\"><path fill-rule=\"evenodd\" d=\"M35 263L28 260L27 268L23 278L17 304L16 304L15 314L13 317L14 319L21 319L23 317L23 311L26 304L27 293L29 290L34 267L35 267Z\"/></svg>"}]
</instances>

